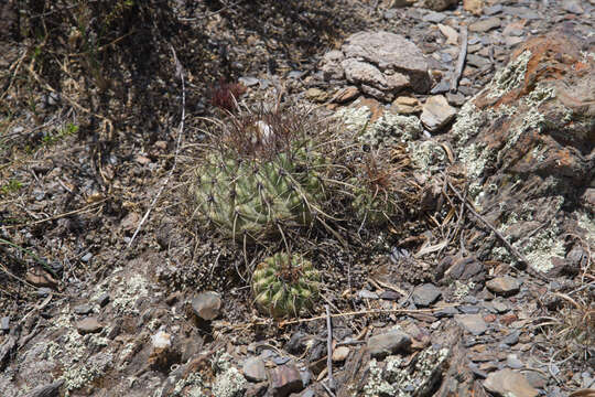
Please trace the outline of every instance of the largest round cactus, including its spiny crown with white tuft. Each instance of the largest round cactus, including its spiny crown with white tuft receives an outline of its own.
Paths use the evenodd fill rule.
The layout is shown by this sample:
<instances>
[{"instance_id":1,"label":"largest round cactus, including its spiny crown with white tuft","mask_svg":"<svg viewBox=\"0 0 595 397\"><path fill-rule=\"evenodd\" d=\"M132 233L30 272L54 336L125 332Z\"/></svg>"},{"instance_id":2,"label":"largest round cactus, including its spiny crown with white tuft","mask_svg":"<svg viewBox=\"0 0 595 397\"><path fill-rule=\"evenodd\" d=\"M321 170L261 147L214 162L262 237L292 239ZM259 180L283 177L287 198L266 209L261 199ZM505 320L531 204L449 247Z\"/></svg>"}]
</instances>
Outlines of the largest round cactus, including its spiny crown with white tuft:
<instances>
[{"instance_id":1,"label":"largest round cactus, including its spiny crown with white tuft","mask_svg":"<svg viewBox=\"0 0 595 397\"><path fill-rule=\"evenodd\" d=\"M310 226L324 197L318 175L324 159L315 142L269 116L236 119L234 133L195 169L196 213L235 242L264 242L283 229Z\"/></svg>"}]
</instances>

